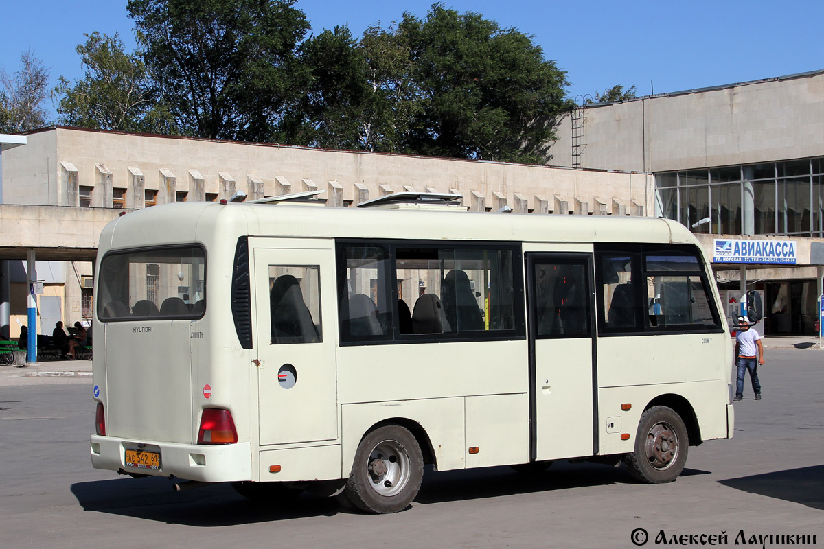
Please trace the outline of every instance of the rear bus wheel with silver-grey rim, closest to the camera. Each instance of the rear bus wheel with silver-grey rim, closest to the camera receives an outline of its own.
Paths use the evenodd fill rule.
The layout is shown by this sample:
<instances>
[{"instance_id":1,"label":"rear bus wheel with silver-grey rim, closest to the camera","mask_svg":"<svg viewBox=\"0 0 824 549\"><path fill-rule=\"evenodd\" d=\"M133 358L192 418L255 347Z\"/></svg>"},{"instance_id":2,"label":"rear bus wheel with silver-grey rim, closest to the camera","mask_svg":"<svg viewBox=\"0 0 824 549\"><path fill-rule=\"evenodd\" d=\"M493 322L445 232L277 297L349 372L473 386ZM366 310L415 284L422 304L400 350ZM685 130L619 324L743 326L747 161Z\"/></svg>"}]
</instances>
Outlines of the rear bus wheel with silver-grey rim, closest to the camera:
<instances>
[{"instance_id":1,"label":"rear bus wheel with silver-grey rim, closest to the camera","mask_svg":"<svg viewBox=\"0 0 824 549\"><path fill-rule=\"evenodd\" d=\"M396 513L412 503L423 478L424 457L412 433L382 426L358 444L344 494L368 513Z\"/></svg>"}]
</instances>

